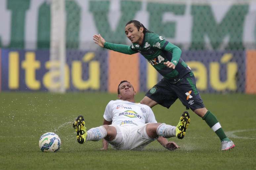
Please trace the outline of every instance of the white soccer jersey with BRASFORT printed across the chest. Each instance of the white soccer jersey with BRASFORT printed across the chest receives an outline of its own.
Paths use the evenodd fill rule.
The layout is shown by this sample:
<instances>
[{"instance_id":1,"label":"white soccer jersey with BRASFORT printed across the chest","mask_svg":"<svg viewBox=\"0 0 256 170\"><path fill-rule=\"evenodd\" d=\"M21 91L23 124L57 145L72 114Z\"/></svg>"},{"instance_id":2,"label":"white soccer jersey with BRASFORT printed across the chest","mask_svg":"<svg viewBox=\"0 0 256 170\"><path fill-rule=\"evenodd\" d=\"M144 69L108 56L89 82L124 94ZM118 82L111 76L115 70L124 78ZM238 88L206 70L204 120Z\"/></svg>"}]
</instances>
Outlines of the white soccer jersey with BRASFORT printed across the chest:
<instances>
[{"instance_id":1,"label":"white soccer jersey with BRASFORT printed across the chest","mask_svg":"<svg viewBox=\"0 0 256 170\"><path fill-rule=\"evenodd\" d=\"M145 104L133 103L125 100L111 100L106 106L104 115L106 121L113 125L144 125L157 123L151 108Z\"/></svg>"}]
</instances>

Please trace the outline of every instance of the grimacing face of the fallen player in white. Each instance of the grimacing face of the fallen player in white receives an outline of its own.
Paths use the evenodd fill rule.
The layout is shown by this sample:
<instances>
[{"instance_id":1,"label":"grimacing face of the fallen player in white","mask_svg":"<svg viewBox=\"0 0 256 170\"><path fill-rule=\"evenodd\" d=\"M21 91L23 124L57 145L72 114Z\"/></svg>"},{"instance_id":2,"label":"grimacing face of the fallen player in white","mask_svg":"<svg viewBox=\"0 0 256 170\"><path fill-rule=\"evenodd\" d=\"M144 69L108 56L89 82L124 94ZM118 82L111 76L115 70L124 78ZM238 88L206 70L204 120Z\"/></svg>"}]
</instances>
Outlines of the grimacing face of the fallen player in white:
<instances>
[{"instance_id":1,"label":"grimacing face of the fallen player in white","mask_svg":"<svg viewBox=\"0 0 256 170\"><path fill-rule=\"evenodd\" d=\"M118 98L123 100L132 99L135 95L132 85L128 82L123 82L120 84L119 93Z\"/></svg>"}]
</instances>

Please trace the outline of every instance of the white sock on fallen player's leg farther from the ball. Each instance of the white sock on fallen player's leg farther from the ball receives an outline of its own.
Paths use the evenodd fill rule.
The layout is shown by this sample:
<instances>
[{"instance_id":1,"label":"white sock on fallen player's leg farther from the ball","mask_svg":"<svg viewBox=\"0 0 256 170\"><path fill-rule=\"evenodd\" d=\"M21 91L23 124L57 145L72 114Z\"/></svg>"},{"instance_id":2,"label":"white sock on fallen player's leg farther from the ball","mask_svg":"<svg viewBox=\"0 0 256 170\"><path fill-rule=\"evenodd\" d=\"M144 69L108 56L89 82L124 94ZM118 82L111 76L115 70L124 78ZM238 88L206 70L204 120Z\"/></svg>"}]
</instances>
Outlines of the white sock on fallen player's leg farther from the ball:
<instances>
[{"instance_id":1,"label":"white sock on fallen player's leg farther from the ball","mask_svg":"<svg viewBox=\"0 0 256 170\"><path fill-rule=\"evenodd\" d=\"M156 129L158 136L163 136L164 138L170 138L176 136L176 126L166 125L162 123Z\"/></svg>"}]
</instances>

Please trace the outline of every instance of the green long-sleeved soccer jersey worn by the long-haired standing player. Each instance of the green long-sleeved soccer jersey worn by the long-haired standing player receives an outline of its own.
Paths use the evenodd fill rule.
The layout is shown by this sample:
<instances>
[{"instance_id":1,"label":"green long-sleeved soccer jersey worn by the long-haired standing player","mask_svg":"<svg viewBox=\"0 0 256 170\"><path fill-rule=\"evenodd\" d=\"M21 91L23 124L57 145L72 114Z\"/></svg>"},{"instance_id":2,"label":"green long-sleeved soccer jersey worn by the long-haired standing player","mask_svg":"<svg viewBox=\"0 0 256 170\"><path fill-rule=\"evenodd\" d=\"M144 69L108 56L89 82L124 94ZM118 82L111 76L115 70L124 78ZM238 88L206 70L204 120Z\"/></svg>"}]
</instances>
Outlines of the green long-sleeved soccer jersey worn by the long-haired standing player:
<instances>
[{"instance_id":1,"label":"green long-sleeved soccer jersey worn by the long-haired standing player","mask_svg":"<svg viewBox=\"0 0 256 170\"><path fill-rule=\"evenodd\" d=\"M145 33L142 45L133 43L129 46L106 42L104 48L125 54L141 53L165 79L171 82L177 82L186 74L192 72L180 58L181 49L154 33ZM175 69L168 68L163 64L167 61L172 62Z\"/></svg>"}]
</instances>

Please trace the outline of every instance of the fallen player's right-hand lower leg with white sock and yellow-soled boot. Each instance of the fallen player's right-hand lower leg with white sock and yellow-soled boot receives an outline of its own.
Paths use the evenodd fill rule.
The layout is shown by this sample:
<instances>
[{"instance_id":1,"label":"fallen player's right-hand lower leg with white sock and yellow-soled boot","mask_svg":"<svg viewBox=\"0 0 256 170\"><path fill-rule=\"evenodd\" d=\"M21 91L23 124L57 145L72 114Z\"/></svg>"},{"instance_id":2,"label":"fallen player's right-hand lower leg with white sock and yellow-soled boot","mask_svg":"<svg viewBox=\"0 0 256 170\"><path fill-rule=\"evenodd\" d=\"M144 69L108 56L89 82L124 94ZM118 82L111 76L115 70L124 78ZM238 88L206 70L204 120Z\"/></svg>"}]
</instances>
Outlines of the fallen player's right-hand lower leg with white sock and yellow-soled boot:
<instances>
[{"instance_id":1,"label":"fallen player's right-hand lower leg with white sock and yellow-soled boot","mask_svg":"<svg viewBox=\"0 0 256 170\"><path fill-rule=\"evenodd\" d=\"M189 116L189 113L185 111L181 115L180 121L176 127L171 125L166 125L165 123L163 123L157 127L156 133L158 136L163 136L165 138L177 136L179 139L182 139L186 134L186 129L188 128L189 124L190 124L190 116Z\"/></svg>"}]
</instances>

